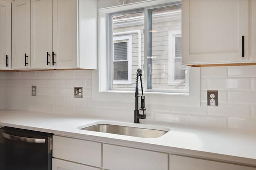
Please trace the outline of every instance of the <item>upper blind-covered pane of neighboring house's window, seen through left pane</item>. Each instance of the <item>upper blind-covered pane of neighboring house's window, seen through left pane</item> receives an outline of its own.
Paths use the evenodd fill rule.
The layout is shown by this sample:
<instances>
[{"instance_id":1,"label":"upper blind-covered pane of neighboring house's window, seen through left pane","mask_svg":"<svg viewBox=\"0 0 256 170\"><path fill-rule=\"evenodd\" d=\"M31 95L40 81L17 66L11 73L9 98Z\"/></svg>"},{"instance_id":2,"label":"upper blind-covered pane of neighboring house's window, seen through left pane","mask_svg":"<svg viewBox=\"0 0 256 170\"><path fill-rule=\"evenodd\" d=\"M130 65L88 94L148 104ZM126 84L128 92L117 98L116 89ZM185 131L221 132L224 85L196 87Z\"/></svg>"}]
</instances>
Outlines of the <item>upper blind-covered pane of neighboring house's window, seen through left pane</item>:
<instances>
[{"instance_id":1,"label":"upper blind-covered pane of neighboring house's window, seen through left pane","mask_svg":"<svg viewBox=\"0 0 256 170\"><path fill-rule=\"evenodd\" d=\"M127 42L114 43L114 61L127 60Z\"/></svg>"}]
</instances>

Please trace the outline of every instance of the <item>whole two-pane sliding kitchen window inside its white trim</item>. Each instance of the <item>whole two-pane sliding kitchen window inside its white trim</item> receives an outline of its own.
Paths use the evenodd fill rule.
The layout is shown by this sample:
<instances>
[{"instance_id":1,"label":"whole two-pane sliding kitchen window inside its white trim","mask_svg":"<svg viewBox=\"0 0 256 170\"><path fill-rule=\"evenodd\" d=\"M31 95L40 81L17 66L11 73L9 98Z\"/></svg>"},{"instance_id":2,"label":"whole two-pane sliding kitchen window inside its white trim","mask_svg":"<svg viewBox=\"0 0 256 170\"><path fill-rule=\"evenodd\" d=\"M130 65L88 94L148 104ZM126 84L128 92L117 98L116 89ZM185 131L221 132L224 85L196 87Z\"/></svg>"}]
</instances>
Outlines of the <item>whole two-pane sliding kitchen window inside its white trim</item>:
<instances>
[{"instance_id":1,"label":"whole two-pane sliding kitchen window inside its white trim","mask_svg":"<svg viewBox=\"0 0 256 170\"><path fill-rule=\"evenodd\" d=\"M110 14L109 19L108 90L134 90L141 68L145 91L188 93L180 4Z\"/></svg>"}]
</instances>

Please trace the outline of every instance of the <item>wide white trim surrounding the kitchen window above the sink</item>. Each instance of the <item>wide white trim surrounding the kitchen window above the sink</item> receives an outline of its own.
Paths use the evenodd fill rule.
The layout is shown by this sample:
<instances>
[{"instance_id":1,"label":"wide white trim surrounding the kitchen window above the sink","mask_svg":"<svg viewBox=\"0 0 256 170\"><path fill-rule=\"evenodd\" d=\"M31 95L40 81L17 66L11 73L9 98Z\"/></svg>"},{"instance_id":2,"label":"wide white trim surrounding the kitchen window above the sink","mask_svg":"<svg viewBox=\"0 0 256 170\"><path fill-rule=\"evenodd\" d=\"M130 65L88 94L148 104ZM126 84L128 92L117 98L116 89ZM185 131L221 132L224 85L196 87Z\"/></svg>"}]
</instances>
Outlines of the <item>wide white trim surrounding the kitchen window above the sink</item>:
<instances>
[{"instance_id":1,"label":"wide white trim surrounding the kitchen window above the sink","mask_svg":"<svg viewBox=\"0 0 256 170\"><path fill-rule=\"evenodd\" d=\"M144 8L146 6L155 6L159 4L166 4L176 2L177 0L146 0L143 2L136 2L132 4L114 6L99 9L98 13L98 70L92 71L92 100L95 101L109 101L109 102L133 102L134 92L132 91L116 91L108 90L107 79L107 47L108 47L108 13L120 12L125 10L132 10ZM201 106L201 89L200 89L200 67L190 68L189 94L178 93L161 93L161 92L144 92L147 97L147 103L154 105L166 106L186 106L186 107L200 107Z\"/></svg>"}]
</instances>

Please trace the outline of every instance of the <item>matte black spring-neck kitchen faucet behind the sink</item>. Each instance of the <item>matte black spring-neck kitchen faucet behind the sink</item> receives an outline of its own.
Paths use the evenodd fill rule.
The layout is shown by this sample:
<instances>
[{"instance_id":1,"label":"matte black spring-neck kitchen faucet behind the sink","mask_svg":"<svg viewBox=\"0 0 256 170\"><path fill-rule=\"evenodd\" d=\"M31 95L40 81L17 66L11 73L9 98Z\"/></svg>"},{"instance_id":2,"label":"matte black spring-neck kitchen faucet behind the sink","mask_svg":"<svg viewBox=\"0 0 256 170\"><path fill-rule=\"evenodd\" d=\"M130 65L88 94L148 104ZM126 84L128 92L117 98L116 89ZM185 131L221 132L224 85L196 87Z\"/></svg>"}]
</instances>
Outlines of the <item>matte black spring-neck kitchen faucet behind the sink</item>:
<instances>
[{"instance_id":1,"label":"matte black spring-neck kitchen faucet behind the sink","mask_svg":"<svg viewBox=\"0 0 256 170\"><path fill-rule=\"evenodd\" d=\"M140 76L140 86L142 96L139 96L139 89L138 89L138 79ZM142 70L138 68L137 70L137 77L136 77L136 88L135 88L135 110L134 110L134 123L140 123L140 119L146 119L146 115L144 111L145 108L145 96L143 95L143 88L142 88ZM140 109L139 109L139 97L140 97ZM143 111L143 114L140 114L140 110Z\"/></svg>"}]
</instances>

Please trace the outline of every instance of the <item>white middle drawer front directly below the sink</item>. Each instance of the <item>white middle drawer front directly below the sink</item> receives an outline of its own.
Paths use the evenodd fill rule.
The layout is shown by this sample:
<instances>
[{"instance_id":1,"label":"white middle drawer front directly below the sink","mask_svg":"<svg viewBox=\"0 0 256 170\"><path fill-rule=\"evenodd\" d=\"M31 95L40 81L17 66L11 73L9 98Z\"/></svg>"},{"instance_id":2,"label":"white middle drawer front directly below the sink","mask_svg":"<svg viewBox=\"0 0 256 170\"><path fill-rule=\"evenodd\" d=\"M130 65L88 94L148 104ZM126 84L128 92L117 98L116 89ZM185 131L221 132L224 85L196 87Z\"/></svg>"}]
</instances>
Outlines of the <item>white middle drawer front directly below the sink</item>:
<instances>
[{"instance_id":1,"label":"white middle drawer front directly below the sink","mask_svg":"<svg viewBox=\"0 0 256 170\"><path fill-rule=\"evenodd\" d=\"M168 154L104 144L103 167L111 170L168 170Z\"/></svg>"}]
</instances>

